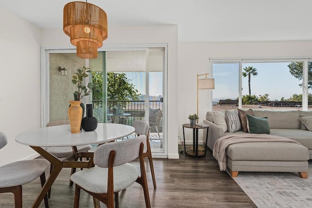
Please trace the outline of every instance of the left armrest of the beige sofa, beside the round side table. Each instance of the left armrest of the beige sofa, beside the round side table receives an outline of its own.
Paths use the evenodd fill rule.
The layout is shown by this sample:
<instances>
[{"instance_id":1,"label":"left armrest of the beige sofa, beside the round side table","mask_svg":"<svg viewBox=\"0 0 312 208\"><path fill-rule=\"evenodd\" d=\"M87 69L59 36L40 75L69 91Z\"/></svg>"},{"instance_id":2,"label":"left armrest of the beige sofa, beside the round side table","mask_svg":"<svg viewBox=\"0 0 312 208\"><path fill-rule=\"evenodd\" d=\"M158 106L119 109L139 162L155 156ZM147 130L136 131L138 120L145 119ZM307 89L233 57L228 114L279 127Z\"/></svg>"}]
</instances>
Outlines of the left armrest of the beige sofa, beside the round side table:
<instances>
[{"instance_id":1,"label":"left armrest of the beige sofa, beside the round side table","mask_svg":"<svg viewBox=\"0 0 312 208\"><path fill-rule=\"evenodd\" d=\"M218 125L216 125L213 122L210 122L208 120L203 120L204 124L208 124L209 125L209 130L208 130L208 142L207 142L207 146L211 149L214 150L214 146L215 146L215 142L218 138L222 137L225 135L225 133L223 132L223 129L221 127L219 127ZM206 142L206 135L207 135L207 129L204 129L204 133L203 133L203 141Z\"/></svg>"}]
</instances>

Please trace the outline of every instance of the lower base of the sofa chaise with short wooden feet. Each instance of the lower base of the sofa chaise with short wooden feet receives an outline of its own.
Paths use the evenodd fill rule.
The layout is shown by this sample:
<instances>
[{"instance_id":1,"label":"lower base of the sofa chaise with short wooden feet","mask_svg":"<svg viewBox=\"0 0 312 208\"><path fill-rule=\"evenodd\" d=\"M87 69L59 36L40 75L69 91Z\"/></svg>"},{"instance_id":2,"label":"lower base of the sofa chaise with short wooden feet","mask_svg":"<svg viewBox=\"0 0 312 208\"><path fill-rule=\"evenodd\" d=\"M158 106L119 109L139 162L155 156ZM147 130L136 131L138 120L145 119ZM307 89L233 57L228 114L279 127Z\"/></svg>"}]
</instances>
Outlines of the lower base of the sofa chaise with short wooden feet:
<instances>
[{"instance_id":1,"label":"lower base of the sofa chaise with short wooden feet","mask_svg":"<svg viewBox=\"0 0 312 208\"><path fill-rule=\"evenodd\" d=\"M232 177L238 172L298 172L301 178L308 178L308 161L251 161L232 160L227 157L227 167Z\"/></svg>"}]
</instances>

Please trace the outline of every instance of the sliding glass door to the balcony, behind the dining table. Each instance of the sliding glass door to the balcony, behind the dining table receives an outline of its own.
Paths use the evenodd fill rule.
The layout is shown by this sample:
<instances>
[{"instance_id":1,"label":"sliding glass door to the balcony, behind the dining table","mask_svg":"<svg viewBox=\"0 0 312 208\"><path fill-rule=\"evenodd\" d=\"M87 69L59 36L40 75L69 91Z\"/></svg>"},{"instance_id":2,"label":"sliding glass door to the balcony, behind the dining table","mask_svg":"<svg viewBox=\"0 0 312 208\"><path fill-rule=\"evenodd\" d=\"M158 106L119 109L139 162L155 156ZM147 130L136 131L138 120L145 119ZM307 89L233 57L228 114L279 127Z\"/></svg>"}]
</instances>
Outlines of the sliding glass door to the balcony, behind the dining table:
<instances>
[{"instance_id":1,"label":"sliding glass door to the balcony, behind the dining table","mask_svg":"<svg viewBox=\"0 0 312 208\"><path fill-rule=\"evenodd\" d=\"M100 93L82 99L93 104L98 122L132 125L134 120L150 124L153 155L166 154L166 48L122 48L99 51L94 59L77 57L73 50L45 50L42 70L42 126L50 121L67 120L69 100L76 85L72 76L84 66L92 73L84 82L92 82ZM59 69L66 69L61 73ZM84 115L85 116L85 115Z\"/></svg>"}]
</instances>

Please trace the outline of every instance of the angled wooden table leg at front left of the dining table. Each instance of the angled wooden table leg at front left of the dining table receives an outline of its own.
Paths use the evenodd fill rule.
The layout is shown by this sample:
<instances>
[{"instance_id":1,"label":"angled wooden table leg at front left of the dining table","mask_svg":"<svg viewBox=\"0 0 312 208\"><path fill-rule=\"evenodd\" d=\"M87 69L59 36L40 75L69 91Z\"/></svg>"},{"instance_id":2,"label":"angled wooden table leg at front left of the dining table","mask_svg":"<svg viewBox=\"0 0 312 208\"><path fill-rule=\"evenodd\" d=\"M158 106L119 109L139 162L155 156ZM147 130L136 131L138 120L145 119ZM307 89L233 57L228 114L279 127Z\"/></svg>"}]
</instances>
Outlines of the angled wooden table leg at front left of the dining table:
<instances>
[{"instance_id":1,"label":"angled wooden table leg at front left of the dining table","mask_svg":"<svg viewBox=\"0 0 312 208\"><path fill-rule=\"evenodd\" d=\"M49 152L43 150L41 147L34 147L30 146L32 149L37 151L40 155L42 155L45 159L51 162L53 169L46 180L45 184L43 185L39 195L37 196L35 202L32 205L32 208L39 208L42 200L46 196L47 192L51 188L53 182L58 177L60 170L62 170L62 161L59 158L55 157L54 155L50 154Z\"/></svg>"}]
</instances>

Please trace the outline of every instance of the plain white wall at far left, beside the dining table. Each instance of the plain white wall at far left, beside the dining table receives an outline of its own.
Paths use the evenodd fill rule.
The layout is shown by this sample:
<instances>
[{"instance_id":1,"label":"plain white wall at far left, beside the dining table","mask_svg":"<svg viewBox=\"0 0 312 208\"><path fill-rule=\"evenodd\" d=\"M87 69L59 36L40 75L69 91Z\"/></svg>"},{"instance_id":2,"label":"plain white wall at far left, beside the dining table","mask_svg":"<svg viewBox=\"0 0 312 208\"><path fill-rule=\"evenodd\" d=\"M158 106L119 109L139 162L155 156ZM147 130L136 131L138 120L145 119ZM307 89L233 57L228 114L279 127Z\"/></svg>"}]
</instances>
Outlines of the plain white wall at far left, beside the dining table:
<instances>
[{"instance_id":1,"label":"plain white wall at far left, beside the dining table","mask_svg":"<svg viewBox=\"0 0 312 208\"><path fill-rule=\"evenodd\" d=\"M40 127L40 30L2 8L0 28L0 131L8 136L1 166L34 154L15 136Z\"/></svg>"}]
</instances>

